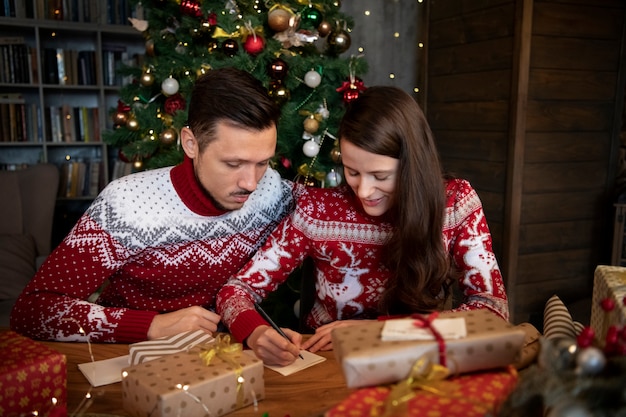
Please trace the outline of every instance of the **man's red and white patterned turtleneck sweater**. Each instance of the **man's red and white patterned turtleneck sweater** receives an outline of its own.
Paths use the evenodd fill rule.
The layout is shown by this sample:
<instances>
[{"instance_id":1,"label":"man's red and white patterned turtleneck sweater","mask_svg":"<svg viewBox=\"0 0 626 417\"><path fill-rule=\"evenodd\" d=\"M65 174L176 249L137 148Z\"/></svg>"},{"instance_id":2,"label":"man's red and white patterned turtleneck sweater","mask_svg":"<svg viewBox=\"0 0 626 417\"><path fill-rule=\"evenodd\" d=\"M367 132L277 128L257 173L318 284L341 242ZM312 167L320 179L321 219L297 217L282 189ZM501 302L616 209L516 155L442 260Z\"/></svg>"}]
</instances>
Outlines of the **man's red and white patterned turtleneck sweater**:
<instances>
[{"instance_id":1,"label":"man's red and white patterned turtleneck sweater","mask_svg":"<svg viewBox=\"0 0 626 417\"><path fill-rule=\"evenodd\" d=\"M190 159L113 181L25 288L11 328L35 339L132 343L146 340L160 312L212 309L293 208L293 187L268 169L244 206L225 212ZM88 302L105 281L97 304Z\"/></svg>"}]
</instances>

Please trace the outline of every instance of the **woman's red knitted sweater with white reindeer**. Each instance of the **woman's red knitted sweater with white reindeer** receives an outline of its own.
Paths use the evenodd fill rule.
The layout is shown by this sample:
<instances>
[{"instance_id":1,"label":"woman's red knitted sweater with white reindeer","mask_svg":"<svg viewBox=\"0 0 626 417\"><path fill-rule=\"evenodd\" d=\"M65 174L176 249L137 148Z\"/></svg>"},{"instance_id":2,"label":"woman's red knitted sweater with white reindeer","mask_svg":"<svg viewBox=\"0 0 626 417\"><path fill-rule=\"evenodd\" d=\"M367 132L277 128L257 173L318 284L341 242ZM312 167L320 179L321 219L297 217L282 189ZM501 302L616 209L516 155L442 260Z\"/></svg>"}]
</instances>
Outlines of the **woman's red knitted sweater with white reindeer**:
<instances>
[{"instance_id":1,"label":"woman's red knitted sweater with white reindeer","mask_svg":"<svg viewBox=\"0 0 626 417\"><path fill-rule=\"evenodd\" d=\"M481 201L461 179L446 183L443 240L462 272L464 299L457 310L487 308L508 319L502 275L492 251ZM217 298L218 313L235 338L244 340L266 324L254 309L306 257L315 264L316 296L306 324L373 318L390 271L381 262L390 223L371 217L347 187L307 188L296 210L270 235L250 262L229 280ZM416 248L416 250L420 250Z\"/></svg>"}]
</instances>

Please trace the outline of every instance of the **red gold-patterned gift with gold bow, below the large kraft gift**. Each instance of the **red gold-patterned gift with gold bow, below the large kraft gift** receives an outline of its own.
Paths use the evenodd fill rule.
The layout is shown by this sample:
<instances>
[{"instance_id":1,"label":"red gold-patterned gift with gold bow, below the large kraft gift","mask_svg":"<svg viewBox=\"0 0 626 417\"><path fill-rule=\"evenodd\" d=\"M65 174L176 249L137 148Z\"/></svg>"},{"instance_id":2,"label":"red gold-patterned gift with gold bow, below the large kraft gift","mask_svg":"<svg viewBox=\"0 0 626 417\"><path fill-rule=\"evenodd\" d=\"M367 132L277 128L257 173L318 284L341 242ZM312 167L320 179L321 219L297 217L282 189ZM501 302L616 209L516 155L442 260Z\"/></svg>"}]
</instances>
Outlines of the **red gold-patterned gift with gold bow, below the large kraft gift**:
<instances>
[{"instance_id":1,"label":"red gold-patterned gift with gold bow, below the large kraft gift","mask_svg":"<svg viewBox=\"0 0 626 417\"><path fill-rule=\"evenodd\" d=\"M516 383L513 369L466 374L433 383L432 390L415 389L408 401L395 407L390 400L391 387L361 388L327 411L325 417L494 416ZM389 410L397 413L385 414Z\"/></svg>"}]
</instances>

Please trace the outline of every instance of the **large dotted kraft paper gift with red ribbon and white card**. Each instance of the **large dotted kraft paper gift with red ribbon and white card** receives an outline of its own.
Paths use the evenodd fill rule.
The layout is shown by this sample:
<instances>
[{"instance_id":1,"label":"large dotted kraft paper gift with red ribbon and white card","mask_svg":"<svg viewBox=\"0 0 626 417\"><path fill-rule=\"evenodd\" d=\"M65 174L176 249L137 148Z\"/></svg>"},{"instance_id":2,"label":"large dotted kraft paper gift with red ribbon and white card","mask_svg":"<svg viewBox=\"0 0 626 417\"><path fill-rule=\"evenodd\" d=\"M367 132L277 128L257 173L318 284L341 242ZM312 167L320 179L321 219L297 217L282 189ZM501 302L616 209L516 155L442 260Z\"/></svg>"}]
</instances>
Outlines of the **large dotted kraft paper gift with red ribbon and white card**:
<instances>
[{"instance_id":1,"label":"large dotted kraft paper gift with red ribbon and white card","mask_svg":"<svg viewBox=\"0 0 626 417\"><path fill-rule=\"evenodd\" d=\"M467 337L445 340L446 366L452 374L506 367L515 363L525 332L489 310L443 312L439 318L463 318ZM337 328L333 348L348 388L393 383L407 377L416 360L439 362L439 345L428 341L382 341L384 321Z\"/></svg>"}]
</instances>

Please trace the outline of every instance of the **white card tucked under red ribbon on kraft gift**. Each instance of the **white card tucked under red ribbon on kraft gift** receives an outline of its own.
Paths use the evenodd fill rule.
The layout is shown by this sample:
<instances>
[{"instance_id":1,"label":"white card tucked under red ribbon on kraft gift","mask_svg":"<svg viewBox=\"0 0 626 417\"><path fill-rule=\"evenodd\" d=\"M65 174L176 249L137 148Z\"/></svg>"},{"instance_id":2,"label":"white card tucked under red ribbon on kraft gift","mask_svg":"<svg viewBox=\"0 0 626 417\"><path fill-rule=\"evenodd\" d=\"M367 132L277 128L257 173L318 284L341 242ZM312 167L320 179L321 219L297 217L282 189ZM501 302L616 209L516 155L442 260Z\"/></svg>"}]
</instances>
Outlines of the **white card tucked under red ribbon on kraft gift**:
<instances>
[{"instance_id":1,"label":"white card tucked under red ribbon on kraft gift","mask_svg":"<svg viewBox=\"0 0 626 417\"><path fill-rule=\"evenodd\" d=\"M465 319L463 317L449 319L435 319L432 325L444 339L461 339L467 336ZM426 327L415 325L415 319L385 320L381 340L435 340L432 332Z\"/></svg>"}]
</instances>

